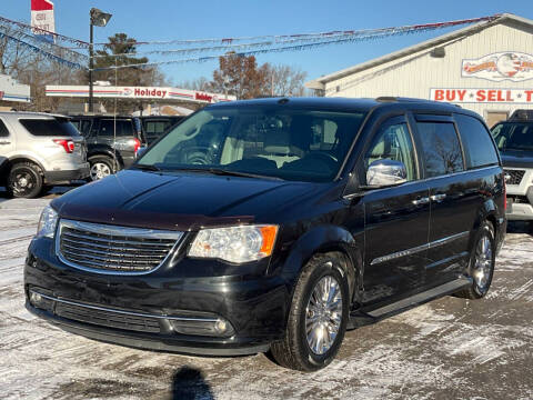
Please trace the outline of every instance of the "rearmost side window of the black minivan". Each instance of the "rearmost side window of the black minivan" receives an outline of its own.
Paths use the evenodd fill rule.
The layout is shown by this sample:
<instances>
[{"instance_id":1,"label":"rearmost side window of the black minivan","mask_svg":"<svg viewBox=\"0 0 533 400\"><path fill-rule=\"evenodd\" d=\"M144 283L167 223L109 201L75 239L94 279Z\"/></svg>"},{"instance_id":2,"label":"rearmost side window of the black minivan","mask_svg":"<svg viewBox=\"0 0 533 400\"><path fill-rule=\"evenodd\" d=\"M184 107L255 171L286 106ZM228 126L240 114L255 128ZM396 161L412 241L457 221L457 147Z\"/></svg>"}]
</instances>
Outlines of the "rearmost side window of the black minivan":
<instances>
[{"instance_id":1,"label":"rearmost side window of the black minivan","mask_svg":"<svg viewBox=\"0 0 533 400\"><path fill-rule=\"evenodd\" d=\"M463 114L455 114L464 157L469 168L497 164L496 149L486 128L477 119Z\"/></svg>"}]
</instances>

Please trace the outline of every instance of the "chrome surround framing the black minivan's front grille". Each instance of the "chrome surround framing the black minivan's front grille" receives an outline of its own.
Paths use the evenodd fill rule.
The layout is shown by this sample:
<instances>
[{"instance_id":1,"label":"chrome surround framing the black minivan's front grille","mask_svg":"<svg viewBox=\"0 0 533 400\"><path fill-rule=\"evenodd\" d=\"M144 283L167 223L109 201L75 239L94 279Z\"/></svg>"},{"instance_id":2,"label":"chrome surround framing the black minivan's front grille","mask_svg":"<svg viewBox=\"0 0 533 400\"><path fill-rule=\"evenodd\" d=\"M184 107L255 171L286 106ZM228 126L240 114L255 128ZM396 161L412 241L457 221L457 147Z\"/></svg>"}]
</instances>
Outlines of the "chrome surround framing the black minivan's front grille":
<instances>
[{"instance_id":1,"label":"chrome surround framing the black minivan's front grille","mask_svg":"<svg viewBox=\"0 0 533 400\"><path fill-rule=\"evenodd\" d=\"M61 253L61 229L62 227L74 228L74 229L82 229L94 233L102 233L102 234L115 234L115 236L132 236L135 238L143 238L143 239L173 239L175 240L174 244L169 252L164 257L161 262L151 270L148 271L112 271L112 270L104 270L99 268L88 268L80 266L76 262L71 262L67 260L63 254ZM60 219L58 222L58 227L56 229L56 256L58 256L59 260L64 264L87 271L92 273L99 274L114 274L114 276L143 276L148 273L155 272L161 266L167 262L170 258L173 257L177 249L182 243L182 238L184 232L180 231L167 231L167 230L154 230L154 229L140 229L140 228L128 228L128 227L115 227L115 226L108 226L108 224L100 224L100 223L92 223L92 222L82 222L82 221L74 221L68 219Z\"/></svg>"}]
</instances>

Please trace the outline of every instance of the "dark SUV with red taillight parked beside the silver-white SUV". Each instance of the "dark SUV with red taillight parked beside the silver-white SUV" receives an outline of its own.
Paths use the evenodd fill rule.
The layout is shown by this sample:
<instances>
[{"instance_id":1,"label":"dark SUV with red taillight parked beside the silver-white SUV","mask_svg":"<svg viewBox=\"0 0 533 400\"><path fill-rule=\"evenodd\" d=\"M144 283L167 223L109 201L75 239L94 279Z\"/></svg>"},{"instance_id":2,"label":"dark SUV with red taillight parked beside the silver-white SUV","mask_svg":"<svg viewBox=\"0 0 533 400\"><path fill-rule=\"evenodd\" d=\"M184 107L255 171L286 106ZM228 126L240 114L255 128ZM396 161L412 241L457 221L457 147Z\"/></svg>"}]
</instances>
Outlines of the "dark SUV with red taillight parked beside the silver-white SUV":
<instances>
[{"instance_id":1,"label":"dark SUV with red taillight parked beside the silver-white SUV","mask_svg":"<svg viewBox=\"0 0 533 400\"><path fill-rule=\"evenodd\" d=\"M71 122L87 140L93 181L130 167L145 142L139 121L132 117L76 116Z\"/></svg>"}]
</instances>

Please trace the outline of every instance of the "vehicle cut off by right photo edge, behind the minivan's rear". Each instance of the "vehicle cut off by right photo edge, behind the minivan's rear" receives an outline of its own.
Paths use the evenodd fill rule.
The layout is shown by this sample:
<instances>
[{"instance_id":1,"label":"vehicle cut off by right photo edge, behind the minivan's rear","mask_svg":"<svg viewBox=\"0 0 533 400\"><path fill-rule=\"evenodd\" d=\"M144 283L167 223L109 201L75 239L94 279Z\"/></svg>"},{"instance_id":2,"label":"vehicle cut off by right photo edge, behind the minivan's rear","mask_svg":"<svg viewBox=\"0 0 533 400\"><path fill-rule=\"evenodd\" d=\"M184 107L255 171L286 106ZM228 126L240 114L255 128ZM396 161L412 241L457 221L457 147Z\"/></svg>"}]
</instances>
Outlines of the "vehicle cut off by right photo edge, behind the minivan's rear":
<instances>
[{"instance_id":1,"label":"vehicle cut off by right photo edge, behind the minivan's rear","mask_svg":"<svg viewBox=\"0 0 533 400\"><path fill-rule=\"evenodd\" d=\"M521 110L525 111L525 110ZM507 219L530 221L533 230L533 112L515 112L492 128L507 183Z\"/></svg>"}]
</instances>

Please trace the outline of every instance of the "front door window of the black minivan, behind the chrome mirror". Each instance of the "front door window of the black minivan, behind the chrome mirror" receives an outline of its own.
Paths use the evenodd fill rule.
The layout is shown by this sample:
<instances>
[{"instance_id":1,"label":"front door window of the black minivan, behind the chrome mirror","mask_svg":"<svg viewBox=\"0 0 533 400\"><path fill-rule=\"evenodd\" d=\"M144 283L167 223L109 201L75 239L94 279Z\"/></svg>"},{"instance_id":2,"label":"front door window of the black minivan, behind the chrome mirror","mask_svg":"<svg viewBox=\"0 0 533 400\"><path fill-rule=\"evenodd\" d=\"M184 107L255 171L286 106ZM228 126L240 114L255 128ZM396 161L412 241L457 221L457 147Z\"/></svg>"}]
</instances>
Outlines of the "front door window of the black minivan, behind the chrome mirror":
<instances>
[{"instance_id":1,"label":"front door window of the black minivan, behind the chrome mirror","mask_svg":"<svg viewBox=\"0 0 533 400\"><path fill-rule=\"evenodd\" d=\"M378 160L401 161L405 166L408 180L416 179L413 142L405 122L385 123L380 128L364 156L364 168L368 169Z\"/></svg>"}]
</instances>

